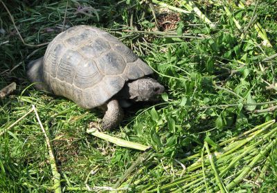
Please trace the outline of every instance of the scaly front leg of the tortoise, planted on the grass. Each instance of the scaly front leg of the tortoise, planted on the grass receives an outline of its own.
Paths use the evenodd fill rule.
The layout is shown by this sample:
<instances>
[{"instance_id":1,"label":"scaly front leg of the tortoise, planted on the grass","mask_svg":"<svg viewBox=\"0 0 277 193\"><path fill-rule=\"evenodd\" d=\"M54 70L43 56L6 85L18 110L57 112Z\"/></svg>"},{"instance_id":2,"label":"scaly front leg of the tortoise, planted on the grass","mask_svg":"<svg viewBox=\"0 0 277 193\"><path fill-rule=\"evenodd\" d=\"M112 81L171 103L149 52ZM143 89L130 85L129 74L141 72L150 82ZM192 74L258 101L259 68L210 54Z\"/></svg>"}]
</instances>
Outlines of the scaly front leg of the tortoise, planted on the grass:
<instances>
[{"instance_id":1,"label":"scaly front leg of the tortoise, planted on the grass","mask_svg":"<svg viewBox=\"0 0 277 193\"><path fill-rule=\"evenodd\" d=\"M110 130L116 128L123 119L123 109L116 99L111 99L107 103L107 111L102 119L102 129Z\"/></svg>"}]
</instances>

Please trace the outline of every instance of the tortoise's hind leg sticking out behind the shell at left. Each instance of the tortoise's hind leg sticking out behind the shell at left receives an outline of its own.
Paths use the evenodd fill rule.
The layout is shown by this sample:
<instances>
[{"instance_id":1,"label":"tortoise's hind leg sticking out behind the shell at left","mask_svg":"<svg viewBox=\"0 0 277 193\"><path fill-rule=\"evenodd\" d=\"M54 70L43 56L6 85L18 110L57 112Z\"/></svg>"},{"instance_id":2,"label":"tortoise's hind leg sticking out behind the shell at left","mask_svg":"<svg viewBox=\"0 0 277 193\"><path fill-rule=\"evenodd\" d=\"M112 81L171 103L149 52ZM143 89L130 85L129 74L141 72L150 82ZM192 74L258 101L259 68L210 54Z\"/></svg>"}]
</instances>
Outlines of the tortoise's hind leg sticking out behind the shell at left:
<instances>
[{"instance_id":1,"label":"tortoise's hind leg sticking out behind the shell at left","mask_svg":"<svg viewBox=\"0 0 277 193\"><path fill-rule=\"evenodd\" d=\"M44 57L41 57L28 63L27 77L30 82L35 83L34 86L37 90L52 92L43 81L43 59Z\"/></svg>"}]
</instances>

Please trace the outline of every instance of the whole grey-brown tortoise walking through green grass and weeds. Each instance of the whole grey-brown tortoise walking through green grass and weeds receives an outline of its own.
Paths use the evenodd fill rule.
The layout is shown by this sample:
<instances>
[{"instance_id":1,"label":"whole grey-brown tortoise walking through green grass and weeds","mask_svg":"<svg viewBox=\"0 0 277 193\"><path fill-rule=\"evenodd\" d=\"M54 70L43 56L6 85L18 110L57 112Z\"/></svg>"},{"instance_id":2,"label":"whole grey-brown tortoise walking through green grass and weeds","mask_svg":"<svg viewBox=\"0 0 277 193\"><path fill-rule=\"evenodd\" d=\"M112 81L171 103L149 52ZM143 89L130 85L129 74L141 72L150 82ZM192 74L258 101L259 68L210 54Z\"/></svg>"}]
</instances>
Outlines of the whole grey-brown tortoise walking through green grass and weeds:
<instances>
[{"instance_id":1,"label":"whole grey-brown tortoise walking through green grass and weeds","mask_svg":"<svg viewBox=\"0 0 277 193\"><path fill-rule=\"evenodd\" d=\"M44 57L28 63L35 88L71 99L85 109L105 110L102 130L123 120L123 109L164 91L152 69L108 32L74 26L48 44Z\"/></svg>"}]
</instances>

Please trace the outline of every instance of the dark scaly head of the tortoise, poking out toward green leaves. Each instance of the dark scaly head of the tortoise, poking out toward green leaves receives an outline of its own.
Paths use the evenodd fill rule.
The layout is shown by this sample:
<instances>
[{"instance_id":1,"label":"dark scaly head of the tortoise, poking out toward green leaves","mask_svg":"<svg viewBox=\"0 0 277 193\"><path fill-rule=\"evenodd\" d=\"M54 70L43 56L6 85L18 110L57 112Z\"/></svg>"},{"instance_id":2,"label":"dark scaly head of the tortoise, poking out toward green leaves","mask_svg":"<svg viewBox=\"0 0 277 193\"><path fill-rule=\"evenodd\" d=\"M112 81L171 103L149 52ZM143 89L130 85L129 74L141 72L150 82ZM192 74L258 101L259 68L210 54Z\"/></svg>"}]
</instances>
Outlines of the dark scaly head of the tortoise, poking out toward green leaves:
<instances>
[{"instance_id":1,"label":"dark scaly head of the tortoise, poking out toward green leaves","mask_svg":"<svg viewBox=\"0 0 277 193\"><path fill-rule=\"evenodd\" d=\"M144 77L127 83L129 99L132 101L152 101L165 90L155 79Z\"/></svg>"}]
</instances>

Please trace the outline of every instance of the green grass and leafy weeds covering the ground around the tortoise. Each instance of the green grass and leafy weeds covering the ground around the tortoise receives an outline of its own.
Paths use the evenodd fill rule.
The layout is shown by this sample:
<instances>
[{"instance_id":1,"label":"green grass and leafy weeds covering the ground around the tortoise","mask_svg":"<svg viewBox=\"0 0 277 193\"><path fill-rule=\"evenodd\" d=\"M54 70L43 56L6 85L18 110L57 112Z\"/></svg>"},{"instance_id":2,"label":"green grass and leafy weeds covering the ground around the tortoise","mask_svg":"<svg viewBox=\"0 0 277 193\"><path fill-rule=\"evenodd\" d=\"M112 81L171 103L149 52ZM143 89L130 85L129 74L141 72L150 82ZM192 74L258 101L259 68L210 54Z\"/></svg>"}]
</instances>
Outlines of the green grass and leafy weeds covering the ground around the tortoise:
<instances>
[{"instance_id":1,"label":"green grass and leafy weeds covering the ground around the tortoise","mask_svg":"<svg viewBox=\"0 0 277 193\"><path fill-rule=\"evenodd\" d=\"M17 83L0 99L1 192L53 191L53 160L35 113L27 114L32 105L62 191L276 192L277 70L270 56L277 53L277 1L191 2L3 1L24 42L0 3L0 89ZM101 112L37 91L26 79L28 62L46 50L41 44L81 24L114 34L166 86L158 103L127 109L107 133L151 150L87 134Z\"/></svg>"}]
</instances>

